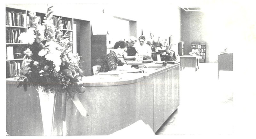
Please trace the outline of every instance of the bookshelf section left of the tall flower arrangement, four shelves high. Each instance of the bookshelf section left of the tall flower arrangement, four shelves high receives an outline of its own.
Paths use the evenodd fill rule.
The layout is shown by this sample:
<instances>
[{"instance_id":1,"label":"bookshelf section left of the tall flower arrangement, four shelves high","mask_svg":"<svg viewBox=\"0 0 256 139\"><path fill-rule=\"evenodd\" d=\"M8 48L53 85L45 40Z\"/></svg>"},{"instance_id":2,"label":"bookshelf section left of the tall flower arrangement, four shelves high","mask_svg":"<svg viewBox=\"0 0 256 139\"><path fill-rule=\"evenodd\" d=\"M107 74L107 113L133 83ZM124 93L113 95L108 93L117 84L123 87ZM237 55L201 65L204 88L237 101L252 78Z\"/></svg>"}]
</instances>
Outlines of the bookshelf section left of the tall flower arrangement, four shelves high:
<instances>
[{"instance_id":1,"label":"bookshelf section left of the tall flower arrangement, four shelves high","mask_svg":"<svg viewBox=\"0 0 256 139\"><path fill-rule=\"evenodd\" d=\"M18 40L22 32L27 31L26 8L17 6L5 7L5 46L6 78L20 76L21 63L24 57L25 44Z\"/></svg>"}]
</instances>

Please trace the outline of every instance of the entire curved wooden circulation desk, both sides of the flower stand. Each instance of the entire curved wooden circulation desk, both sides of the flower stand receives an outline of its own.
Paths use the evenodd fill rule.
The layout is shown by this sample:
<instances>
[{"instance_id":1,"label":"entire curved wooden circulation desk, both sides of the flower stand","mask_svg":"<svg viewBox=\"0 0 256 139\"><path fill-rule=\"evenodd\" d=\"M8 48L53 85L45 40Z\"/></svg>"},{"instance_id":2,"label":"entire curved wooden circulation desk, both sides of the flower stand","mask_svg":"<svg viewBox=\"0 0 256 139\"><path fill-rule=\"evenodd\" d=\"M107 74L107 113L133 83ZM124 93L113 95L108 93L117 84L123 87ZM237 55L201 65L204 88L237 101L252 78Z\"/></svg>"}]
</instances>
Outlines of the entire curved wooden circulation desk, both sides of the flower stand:
<instances>
[{"instance_id":1,"label":"entire curved wooden circulation desk, both sides of the flower stand","mask_svg":"<svg viewBox=\"0 0 256 139\"><path fill-rule=\"evenodd\" d=\"M180 104L180 65L145 65L146 73L84 77L86 91L77 97L88 112L87 117L68 99L63 123L61 96L56 95L52 135L109 135L138 120L156 132ZM17 85L15 79L6 80L7 133L44 135L36 88L28 87L25 92L23 88L17 89Z\"/></svg>"}]
</instances>

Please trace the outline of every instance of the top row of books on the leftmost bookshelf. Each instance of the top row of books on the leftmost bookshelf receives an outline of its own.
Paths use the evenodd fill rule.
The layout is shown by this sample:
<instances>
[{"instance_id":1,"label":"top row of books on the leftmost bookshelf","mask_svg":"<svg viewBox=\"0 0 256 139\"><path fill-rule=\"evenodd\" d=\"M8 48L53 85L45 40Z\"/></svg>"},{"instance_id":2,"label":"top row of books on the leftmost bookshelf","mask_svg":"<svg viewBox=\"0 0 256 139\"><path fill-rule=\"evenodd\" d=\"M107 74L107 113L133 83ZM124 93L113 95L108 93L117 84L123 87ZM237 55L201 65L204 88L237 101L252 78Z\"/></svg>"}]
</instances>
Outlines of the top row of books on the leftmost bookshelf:
<instances>
[{"instance_id":1,"label":"top row of books on the leftmost bookshelf","mask_svg":"<svg viewBox=\"0 0 256 139\"><path fill-rule=\"evenodd\" d=\"M5 25L25 27L26 20L26 13L14 11L6 11L5 13Z\"/></svg>"}]
</instances>

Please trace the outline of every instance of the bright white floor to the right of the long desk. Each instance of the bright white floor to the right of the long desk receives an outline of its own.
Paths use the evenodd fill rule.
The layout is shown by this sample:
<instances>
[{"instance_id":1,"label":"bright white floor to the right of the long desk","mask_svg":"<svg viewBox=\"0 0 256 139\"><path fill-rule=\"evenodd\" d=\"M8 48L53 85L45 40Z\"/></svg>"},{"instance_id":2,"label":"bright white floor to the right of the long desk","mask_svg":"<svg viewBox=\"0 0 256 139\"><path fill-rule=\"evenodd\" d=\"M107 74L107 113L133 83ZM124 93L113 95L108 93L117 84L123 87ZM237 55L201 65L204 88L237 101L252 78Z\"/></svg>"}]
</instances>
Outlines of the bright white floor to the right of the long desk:
<instances>
[{"instance_id":1,"label":"bright white floor to the right of the long desk","mask_svg":"<svg viewBox=\"0 0 256 139\"><path fill-rule=\"evenodd\" d=\"M199 70L180 71L180 106L156 135L232 135L233 71L218 63L199 63Z\"/></svg>"}]
</instances>

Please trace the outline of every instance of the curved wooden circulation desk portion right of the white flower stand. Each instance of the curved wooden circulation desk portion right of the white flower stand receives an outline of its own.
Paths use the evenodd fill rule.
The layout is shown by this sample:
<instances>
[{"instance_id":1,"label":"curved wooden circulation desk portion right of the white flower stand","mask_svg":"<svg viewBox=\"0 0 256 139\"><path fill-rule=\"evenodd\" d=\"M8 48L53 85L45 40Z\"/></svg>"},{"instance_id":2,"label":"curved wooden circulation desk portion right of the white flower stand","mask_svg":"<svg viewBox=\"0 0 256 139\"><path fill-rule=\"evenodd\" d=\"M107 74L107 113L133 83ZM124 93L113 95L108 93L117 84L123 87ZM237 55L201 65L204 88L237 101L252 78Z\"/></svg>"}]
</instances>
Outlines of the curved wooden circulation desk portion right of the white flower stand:
<instances>
[{"instance_id":1,"label":"curved wooden circulation desk portion right of the white flower stand","mask_svg":"<svg viewBox=\"0 0 256 139\"><path fill-rule=\"evenodd\" d=\"M67 135L109 135L138 120L156 132L180 104L180 65L148 65L147 73L83 78L86 92L77 96L89 116L68 100Z\"/></svg>"}]
</instances>

